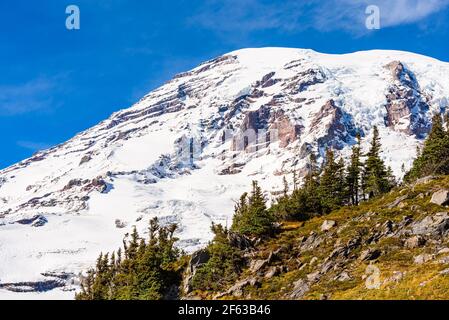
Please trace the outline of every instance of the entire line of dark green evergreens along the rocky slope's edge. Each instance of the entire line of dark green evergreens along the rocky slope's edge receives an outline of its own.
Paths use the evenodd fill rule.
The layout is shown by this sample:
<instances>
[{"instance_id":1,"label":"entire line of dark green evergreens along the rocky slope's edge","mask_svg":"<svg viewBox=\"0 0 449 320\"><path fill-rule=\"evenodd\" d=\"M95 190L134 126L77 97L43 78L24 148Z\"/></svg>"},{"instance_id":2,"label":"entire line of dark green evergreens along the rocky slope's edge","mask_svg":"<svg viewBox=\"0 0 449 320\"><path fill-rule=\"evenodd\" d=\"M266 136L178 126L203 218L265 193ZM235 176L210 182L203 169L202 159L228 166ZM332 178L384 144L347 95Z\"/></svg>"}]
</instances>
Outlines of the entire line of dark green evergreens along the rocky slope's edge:
<instances>
[{"instance_id":1,"label":"entire line of dark green evergreens along the rocky slope's edge","mask_svg":"<svg viewBox=\"0 0 449 320\"><path fill-rule=\"evenodd\" d=\"M429 174L449 174L449 118L436 115L433 126L418 153L406 182ZM312 154L308 174L299 184L294 174L293 190L284 178L282 195L271 206L256 181L252 190L236 202L231 227L212 224L214 237L204 249L209 259L198 266L191 280L192 290L219 291L235 281L243 271L242 249L230 239L269 238L276 233L276 222L304 221L316 215L328 214L345 205L356 206L395 187L391 168L381 158L382 145L377 127L367 153L362 152L361 136L352 148L348 163L337 159L331 149L321 166ZM188 257L176 248L176 225L161 227L157 219L150 222L148 238L136 229L124 241L123 250L101 254L95 268L82 278L79 300L173 299L179 292Z\"/></svg>"}]
</instances>

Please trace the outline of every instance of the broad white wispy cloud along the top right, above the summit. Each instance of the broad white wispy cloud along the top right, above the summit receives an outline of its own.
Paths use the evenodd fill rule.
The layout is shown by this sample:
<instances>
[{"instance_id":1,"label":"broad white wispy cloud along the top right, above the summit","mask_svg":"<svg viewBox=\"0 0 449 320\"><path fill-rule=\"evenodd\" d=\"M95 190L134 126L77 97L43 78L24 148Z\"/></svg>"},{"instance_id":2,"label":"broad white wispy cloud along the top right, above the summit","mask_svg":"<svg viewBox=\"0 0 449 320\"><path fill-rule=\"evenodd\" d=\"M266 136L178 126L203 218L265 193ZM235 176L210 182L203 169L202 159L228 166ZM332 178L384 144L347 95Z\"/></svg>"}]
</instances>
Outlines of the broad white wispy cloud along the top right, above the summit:
<instances>
[{"instance_id":1,"label":"broad white wispy cloud along the top right, above the summit","mask_svg":"<svg viewBox=\"0 0 449 320\"><path fill-rule=\"evenodd\" d=\"M296 32L345 30L367 32L366 7L380 8L381 26L419 23L445 9L449 0L210 0L190 23L236 37L255 31L276 29Z\"/></svg>"}]
</instances>

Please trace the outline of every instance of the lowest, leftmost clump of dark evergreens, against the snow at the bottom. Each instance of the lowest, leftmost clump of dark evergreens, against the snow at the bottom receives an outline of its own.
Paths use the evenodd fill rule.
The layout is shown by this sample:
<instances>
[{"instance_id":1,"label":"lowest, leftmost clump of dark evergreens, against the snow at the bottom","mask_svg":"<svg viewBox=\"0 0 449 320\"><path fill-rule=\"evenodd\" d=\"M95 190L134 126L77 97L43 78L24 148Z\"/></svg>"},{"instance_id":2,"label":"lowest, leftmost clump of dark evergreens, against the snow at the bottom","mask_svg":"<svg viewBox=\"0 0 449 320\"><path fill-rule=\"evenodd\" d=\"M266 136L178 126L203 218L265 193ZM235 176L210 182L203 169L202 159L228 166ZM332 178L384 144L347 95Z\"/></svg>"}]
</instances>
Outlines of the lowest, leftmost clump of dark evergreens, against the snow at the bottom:
<instances>
[{"instance_id":1,"label":"lowest, leftmost clump of dark evergreens, against the snow at the bottom","mask_svg":"<svg viewBox=\"0 0 449 320\"><path fill-rule=\"evenodd\" d=\"M150 224L148 241L134 229L125 241L124 256L118 250L101 254L94 269L82 279L78 300L158 300L167 297L171 287L181 282L180 251L174 244L175 226Z\"/></svg>"}]
</instances>

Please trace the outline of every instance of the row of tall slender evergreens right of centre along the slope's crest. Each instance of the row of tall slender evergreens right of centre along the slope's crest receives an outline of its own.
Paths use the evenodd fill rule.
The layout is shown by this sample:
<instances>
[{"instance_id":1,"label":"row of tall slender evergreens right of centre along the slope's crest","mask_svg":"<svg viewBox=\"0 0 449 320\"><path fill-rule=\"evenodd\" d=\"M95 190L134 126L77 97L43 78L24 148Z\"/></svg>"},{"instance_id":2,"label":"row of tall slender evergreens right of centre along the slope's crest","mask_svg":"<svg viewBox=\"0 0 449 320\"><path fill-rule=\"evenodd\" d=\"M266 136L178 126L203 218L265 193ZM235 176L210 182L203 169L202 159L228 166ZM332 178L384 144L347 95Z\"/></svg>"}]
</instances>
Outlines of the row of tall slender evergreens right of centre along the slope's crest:
<instances>
[{"instance_id":1,"label":"row of tall slender evergreens right of centre along the slope's crest","mask_svg":"<svg viewBox=\"0 0 449 320\"><path fill-rule=\"evenodd\" d=\"M298 187L297 175L294 174L293 192L290 194L284 178L283 195L271 210L282 219L307 220L344 205L358 205L362 200L387 193L395 187L393 172L381 158L378 128L373 129L373 138L366 154L362 152L360 134L356 139L347 164L342 157L336 159L330 148L326 150L322 166L317 164L316 155L311 154L303 185Z\"/></svg>"}]
</instances>

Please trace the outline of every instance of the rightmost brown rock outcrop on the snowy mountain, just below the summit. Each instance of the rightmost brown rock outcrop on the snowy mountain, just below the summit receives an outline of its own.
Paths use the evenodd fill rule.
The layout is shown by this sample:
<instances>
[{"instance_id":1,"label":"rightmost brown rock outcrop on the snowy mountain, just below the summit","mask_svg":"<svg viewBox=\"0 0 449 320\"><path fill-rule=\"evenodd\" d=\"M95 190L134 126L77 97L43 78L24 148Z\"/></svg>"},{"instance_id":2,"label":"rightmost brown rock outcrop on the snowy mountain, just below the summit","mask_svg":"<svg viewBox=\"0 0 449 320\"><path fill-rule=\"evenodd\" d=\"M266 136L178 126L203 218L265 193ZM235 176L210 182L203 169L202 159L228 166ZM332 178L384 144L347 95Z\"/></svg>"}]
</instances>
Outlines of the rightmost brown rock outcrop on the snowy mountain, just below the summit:
<instances>
[{"instance_id":1,"label":"rightmost brown rock outcrop on the snowy mountain, just below the summit","mask_svg":"<svg viewBox=\"0 0 449 320\"><path fill-rule=\"evenodd\" d=\"M387 126L423 137L430 130L425 116L429 97L421 92L416 77L402 62L393 61L386 68L394 80L387 94Z\"/></svg>"}]
</instances>

